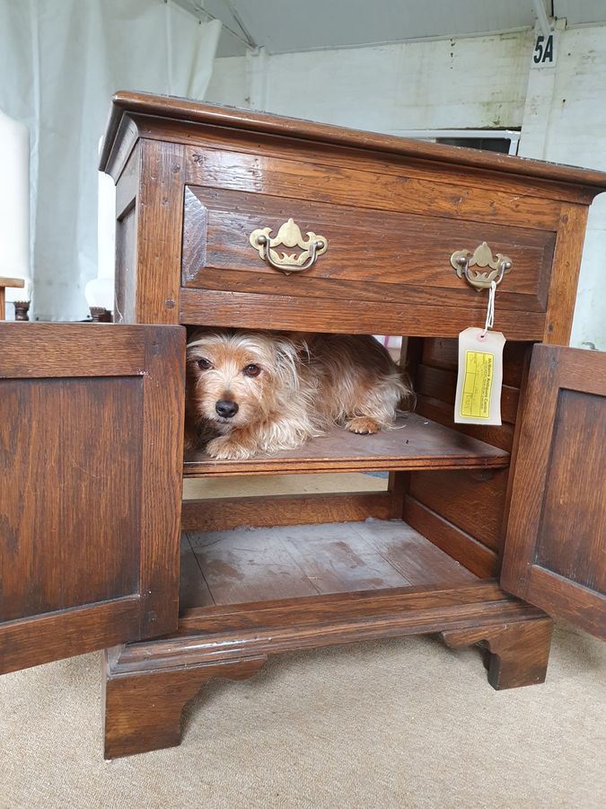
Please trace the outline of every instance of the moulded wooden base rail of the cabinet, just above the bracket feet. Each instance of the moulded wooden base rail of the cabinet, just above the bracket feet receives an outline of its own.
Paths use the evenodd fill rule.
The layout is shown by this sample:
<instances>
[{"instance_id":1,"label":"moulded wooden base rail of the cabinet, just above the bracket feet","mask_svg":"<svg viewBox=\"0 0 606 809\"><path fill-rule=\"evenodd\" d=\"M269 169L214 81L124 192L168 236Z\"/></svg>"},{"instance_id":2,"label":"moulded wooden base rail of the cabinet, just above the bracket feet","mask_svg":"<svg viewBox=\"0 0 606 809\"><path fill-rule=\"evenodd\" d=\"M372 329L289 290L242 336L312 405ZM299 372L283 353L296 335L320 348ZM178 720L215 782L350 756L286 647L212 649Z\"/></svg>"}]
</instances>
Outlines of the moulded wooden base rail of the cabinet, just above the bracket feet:
<instances>
[{"instance_id":1,"label":"moulded wooden base rail of the cabinet, just above the bracket feet","mask_svg":"<svg viewBox=\"0 0 606 809\"><path fill-rule=\"evenodd\" d=\"M176 636L125 646L115 676L294 648L545 618L495 582L405 587L187 610Z\"/></svg>"}]
</instances>

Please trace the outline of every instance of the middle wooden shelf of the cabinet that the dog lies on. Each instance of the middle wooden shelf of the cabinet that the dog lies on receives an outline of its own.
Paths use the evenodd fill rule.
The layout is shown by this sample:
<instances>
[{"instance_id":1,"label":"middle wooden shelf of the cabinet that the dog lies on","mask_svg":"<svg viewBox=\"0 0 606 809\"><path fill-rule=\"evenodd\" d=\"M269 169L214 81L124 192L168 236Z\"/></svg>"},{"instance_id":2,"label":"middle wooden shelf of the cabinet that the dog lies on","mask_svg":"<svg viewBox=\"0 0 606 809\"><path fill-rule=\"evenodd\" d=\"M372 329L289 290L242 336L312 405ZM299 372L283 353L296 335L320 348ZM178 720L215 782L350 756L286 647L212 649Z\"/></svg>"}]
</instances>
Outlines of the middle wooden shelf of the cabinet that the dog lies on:
<instances>
[{"instance_id":1,"label":"middle wooden shelf of the cabinet that the dog lies on","mask_svg":"<svg viewBox=\"0 0 606 809\"><path fill-rule=\"evenodd\" d=\"M417 413L407 413L398 429L356 435L341 428L309 441L300 449L250 460L216 460L206 452L185 455L186 477L285 475L301 472L359 472L405 469L472 469L506 467L509 453Z\"/></svg>"}]
</instances>

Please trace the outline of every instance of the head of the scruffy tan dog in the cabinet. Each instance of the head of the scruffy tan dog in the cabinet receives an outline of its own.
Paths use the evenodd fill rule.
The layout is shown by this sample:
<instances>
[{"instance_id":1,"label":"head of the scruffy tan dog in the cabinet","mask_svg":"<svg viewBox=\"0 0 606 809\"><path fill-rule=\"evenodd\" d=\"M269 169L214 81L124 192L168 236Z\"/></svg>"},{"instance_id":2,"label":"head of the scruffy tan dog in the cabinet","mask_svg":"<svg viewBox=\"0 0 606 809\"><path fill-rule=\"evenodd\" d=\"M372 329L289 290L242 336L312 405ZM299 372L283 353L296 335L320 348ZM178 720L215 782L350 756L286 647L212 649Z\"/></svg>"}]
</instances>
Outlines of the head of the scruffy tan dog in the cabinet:
<instances>
[{"instance_id":1,"label":"head of the scruffy tan dog in the cabinet","mask_svg":"<svg viewBox=\"0 0 606 809\"><path fill-rule=\"evenodd\" d=\"M296 360L294 344L272 335L196 333L188 345L190 401L220 432L254 424L283 406Z\"/></svg>"}]
</instances>

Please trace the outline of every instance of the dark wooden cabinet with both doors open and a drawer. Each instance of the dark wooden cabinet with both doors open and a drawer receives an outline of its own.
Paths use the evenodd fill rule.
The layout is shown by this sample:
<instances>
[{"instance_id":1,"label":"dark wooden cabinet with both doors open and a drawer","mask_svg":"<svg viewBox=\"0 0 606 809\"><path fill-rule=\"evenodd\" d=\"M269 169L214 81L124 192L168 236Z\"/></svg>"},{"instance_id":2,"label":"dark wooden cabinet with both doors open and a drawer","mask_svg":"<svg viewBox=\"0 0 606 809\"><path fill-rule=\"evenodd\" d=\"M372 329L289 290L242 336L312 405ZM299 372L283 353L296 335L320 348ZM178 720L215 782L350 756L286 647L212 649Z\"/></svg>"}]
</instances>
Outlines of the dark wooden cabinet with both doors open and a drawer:
<instances>
[{"instance_id":1,"label":"dark wooden cabinet with both doors open and a drawer","mask_svg":"<svg viewBox=\"0 0 606 809\"><path fill-rule=\"evenodd\" d=\"M605 174L136 93L101 168L119 324L0 331L5 671L113 646L113 757L178 743L202 683L272 653L438 632L484 645L501 689L544 679L550 615L606 634L605 363L555 345ZM452 419L456 336L487 306L461 251L506 270L501 426ZM415 413L183 458L193 325L400 334ZM356 470L388 488L180 502L182 476Z\"/></svg>"}]
</instances>

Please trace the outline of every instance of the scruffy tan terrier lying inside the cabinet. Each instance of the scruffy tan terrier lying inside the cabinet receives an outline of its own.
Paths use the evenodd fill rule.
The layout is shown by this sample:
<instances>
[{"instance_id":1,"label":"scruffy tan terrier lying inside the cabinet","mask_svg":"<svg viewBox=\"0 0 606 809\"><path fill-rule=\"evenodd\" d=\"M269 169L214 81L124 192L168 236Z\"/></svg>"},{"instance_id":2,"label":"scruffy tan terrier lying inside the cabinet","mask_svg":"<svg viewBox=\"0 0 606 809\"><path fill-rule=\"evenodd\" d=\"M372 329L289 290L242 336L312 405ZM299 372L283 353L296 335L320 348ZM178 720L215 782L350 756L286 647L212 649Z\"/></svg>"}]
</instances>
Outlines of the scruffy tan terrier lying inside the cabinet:
<instances>
[{"instance_id":1,"label":"scruffy tan terrier lying inside the cabinet","mask_svg":"<svg viewBox=\"0 0 606 809\"><path fill-rule=\"evenodd\" d=\"M199 331L188 344L186 449L251 458L294 449L339 424L393 424L412 396L400 368L367 335Z\"/></svg>"}]
</instances>

